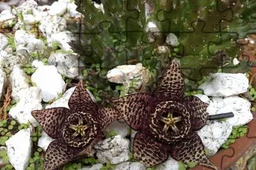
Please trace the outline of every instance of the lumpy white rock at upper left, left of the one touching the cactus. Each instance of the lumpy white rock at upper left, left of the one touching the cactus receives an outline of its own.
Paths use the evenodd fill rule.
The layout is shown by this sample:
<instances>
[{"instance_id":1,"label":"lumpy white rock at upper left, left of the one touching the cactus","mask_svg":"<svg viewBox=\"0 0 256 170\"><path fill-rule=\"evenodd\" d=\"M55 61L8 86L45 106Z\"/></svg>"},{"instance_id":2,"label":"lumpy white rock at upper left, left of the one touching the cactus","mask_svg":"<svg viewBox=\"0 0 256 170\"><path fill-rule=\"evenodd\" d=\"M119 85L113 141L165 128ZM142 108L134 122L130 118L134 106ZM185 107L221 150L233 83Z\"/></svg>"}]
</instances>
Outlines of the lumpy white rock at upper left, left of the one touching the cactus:
<instances>
[{"instance_id":1,"label":"lumpy white rock at upper left, left of the one touching the cactus","mask_svg":"<svg viewBox=\"0 0 256 170\"><path fill-rule=\"evenodd\" d=\"M43 53L45 44L43 40L36 39L33 33L26 33L23 30L17 30L15 32L15 45L17 50L27 49L27 52Z\"/></svg>"}]
</instances>

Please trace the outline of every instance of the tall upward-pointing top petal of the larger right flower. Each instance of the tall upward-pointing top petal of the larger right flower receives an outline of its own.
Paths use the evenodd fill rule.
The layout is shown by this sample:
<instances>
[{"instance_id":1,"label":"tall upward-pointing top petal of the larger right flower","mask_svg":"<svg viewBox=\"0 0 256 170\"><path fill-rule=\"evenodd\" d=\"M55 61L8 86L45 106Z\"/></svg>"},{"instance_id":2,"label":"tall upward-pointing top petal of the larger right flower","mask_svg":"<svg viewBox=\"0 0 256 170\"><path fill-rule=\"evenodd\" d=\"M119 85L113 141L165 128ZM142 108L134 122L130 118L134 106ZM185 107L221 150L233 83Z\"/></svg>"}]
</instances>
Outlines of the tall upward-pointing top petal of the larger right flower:
<instances>
[{"instance_id":1,"label":"tall upward-pointing top petal of the larger right flower","mask_svg":"<svg viewBox=\"0 0 256 170\"><path fill-rule=\"evenodd\" d=\"M153 95L158 98L180 99L184 94L184 80L180 66L172 62Z\"/></svg>"}]
</instances>

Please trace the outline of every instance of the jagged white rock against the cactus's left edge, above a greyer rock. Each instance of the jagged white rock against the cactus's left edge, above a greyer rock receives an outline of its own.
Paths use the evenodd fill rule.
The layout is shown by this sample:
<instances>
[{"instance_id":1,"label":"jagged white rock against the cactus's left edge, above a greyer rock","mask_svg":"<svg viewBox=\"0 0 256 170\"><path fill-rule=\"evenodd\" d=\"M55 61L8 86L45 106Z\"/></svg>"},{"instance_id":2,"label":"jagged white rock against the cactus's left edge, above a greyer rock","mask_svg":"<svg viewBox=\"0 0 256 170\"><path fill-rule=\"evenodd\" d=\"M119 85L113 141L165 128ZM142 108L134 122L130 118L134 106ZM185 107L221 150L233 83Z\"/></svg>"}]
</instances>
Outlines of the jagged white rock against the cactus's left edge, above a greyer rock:
<instances>
[{"instance_id":1,"label":"jagged white rock against the cactus's left edge, above a greyer rock","mask_svg":"<svg viewBox=\"0 0 256 170\"><path fill-rule=\"evenodd\" d=\"M69 45L69 42L71 42L71 40L76 40L73 33L71 33L70 31L62 31L52 34L51 38L48 38L48 45L52 47L52 43L57 42L61 49L64 49L65 51L71 51L72 49Z\"/></svg>"}]
</instances>

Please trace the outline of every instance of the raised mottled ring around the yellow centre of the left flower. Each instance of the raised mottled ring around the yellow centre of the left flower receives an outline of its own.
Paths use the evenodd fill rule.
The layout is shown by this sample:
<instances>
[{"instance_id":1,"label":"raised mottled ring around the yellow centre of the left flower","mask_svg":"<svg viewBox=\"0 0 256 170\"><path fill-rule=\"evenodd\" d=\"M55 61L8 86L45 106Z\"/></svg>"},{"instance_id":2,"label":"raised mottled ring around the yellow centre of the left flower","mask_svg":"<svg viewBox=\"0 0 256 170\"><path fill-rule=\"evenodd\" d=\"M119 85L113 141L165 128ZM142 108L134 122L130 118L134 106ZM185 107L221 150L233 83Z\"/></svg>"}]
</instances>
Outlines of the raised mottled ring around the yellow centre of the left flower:
<instances>
[{"instance_id":1,"label":"raised mottled ring around the yellow centre of the left flower","mask_svg":"<svg viewBox=\"0 0 256 170\"><path fill-rule=\"evenodd\" d=\"M63 138L66 144L69 146L79 148L90 144L90 142L97 137L99 132L99 123L97 123L97 118L89 113L84 113L83 111L78 111L75 114L71 114L69 118L66 118L63 125ZM85 137L78 134L76 137L73 136L75 131L70 128L71 125L78 125L79 121L83 121L83 125L87 125L85 130Z\"/></svg>"}]
</instances>

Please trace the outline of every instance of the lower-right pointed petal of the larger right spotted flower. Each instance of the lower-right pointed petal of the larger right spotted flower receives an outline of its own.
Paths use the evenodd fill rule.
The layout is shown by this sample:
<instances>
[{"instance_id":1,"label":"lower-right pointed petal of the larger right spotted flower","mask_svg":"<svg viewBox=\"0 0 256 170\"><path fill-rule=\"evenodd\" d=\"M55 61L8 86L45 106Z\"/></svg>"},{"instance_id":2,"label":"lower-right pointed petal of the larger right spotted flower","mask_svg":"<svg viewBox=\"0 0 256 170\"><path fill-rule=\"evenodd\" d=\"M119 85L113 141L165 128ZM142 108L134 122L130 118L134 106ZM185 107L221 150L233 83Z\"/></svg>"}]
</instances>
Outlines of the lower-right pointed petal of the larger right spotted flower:
<instances>
[{"instance_id":1,"label":"lower-right pointed petal of the larger right spotted flower","mask_svg":"<svg viewBox=\"0 0 256 170\"><path fill-rule=\"evenodd\" d=\"M170 151L171 156L174 159L184 162L185 164L194 162L196 164L217 169L206 157L204 153L204 145L196 133L192 134L190 139L184 139L183 141L173 144Z\"/></svg>"}]
</instances>

